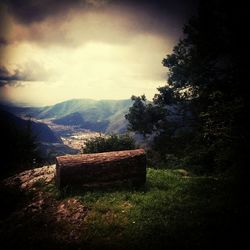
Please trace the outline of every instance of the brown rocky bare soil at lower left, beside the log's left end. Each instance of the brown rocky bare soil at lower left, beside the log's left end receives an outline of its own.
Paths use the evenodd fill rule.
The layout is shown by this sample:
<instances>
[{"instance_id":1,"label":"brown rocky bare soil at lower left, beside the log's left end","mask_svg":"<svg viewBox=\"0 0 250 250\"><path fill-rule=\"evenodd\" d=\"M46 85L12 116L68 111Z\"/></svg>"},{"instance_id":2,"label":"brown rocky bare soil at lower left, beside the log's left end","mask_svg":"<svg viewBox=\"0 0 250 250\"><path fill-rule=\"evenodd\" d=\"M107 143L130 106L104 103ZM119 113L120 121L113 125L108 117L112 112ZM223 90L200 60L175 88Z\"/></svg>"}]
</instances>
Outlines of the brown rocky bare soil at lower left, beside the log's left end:
<instances>
[{"instance_id":1,"label":"brown rocky bare soil at lower left, beside the log's left end","mask_svg":"<svg viewBox=\"0 0 250 250\"><path fill-rule=\"evenodd\" d=\"M38 241L53 239L52 245L57 247L81 240L88 208L75 197L59 197L54 175L55 165L51 165L24 171L3 181L2 190L6 192L1 198L6 216L0 219L1 245L9 242L8 249L15 249L25 241L25 247L21 244L20 249L29 249L29 245L32 248Z\"/></svg>"}]
</instances>

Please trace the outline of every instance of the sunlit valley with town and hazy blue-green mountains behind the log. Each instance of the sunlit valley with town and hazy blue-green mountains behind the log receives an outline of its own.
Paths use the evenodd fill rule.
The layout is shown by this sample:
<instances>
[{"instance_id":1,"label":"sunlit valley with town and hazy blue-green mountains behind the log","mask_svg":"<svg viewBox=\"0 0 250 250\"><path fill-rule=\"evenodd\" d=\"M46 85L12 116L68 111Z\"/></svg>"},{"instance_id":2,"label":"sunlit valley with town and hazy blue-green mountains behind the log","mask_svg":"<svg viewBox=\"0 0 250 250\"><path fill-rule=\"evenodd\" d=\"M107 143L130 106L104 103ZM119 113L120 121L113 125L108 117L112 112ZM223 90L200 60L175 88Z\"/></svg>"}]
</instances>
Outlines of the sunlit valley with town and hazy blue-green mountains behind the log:
<instances>
[{"instance_id":1,"label":"sunlit valley with town and hazy blue-green mountains behind the log","mask_svg":"<svg viewBox=\"0 0 250 250\"><path fill-rule=\"evenodd\" d=\"M72 99L45 107L0 104L0 109L7 112L11 120L24 124L30 120L32 127L37 127L33 135L38 138L40 155L52 162L55 156L82 152L90 138L126 132L124 115L131 105L129 99Z\"/></svg>"}]
</instances>

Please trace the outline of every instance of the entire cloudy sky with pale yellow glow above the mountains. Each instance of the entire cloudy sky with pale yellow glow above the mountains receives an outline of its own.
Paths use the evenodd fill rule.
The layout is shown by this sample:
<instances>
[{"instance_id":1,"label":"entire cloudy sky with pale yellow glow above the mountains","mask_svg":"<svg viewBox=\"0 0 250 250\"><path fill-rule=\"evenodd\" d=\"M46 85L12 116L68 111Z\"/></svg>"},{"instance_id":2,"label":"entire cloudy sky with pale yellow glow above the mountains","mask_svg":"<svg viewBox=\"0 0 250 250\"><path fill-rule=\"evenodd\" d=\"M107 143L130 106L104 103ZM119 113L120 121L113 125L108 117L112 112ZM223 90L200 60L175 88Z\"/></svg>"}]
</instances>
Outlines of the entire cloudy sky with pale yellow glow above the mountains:
<instances>
[{"instance_id":1,"label":"entire cloudy sky with pale yellow glow above the mountains","mask_svg":"<svg viewBox=\"0 0 250 250\"><path fill-rule=\"evenodd\" d=\"M34 106L129 99L166 84L162 59L196 0L3 0L0 98Z\"/></svg>"}]
</instances>

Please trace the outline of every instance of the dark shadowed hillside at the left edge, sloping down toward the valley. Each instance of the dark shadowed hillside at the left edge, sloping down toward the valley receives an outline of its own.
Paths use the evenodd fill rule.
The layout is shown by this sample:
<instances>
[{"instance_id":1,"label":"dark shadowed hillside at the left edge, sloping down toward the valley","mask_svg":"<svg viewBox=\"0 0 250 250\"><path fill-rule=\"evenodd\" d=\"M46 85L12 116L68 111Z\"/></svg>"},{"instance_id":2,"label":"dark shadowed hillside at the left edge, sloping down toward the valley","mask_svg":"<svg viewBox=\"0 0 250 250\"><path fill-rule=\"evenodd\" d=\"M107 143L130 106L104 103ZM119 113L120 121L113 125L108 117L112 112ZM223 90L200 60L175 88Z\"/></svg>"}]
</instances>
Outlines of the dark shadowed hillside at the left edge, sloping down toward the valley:
<instances>
[{"instance_id":1,"label":"dark shadowed hillside at the left edge, sloping down toward the valley","mask_svg":"<svg viewBox=\"0 0 250 250\"><path fill-rule=\"evenodd\" d=\"M16 171L54 162L55 156L77 154L41 122L24 120L0 109L0 179Z\"/></svg>"}]
</instances>

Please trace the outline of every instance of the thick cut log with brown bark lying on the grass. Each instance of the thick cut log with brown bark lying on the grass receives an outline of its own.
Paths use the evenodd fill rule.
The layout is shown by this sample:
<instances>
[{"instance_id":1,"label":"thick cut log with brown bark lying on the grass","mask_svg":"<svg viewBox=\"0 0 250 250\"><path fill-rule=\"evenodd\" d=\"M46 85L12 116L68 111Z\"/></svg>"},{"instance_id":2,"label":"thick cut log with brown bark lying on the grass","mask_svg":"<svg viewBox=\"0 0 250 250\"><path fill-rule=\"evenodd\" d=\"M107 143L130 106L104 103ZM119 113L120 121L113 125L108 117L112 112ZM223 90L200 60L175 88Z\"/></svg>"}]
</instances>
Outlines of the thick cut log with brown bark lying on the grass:
<instances>
[{"instance_id":1,"label":"thick cut log with brown bark lying on the grass","mask_svg":"<svg viewBox=\"0 0 250 250\"><path fill-rule=\"evenodd\" d=\"M56 183L65 186L141 186L146 181L143 149L56 157Z\"/></svg>"}]
</instances>

